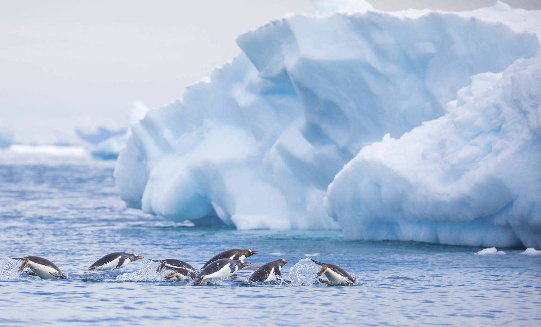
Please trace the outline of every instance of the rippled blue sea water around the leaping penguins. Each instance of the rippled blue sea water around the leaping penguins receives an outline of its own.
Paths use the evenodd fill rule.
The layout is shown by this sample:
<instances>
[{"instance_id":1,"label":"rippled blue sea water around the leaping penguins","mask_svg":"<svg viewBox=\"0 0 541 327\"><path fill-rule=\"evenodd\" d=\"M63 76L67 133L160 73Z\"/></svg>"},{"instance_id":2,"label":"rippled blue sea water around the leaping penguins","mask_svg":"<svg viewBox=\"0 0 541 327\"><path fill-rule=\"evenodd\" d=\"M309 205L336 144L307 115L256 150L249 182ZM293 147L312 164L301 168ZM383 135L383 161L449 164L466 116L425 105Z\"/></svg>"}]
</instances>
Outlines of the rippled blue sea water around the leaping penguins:
<instances>
[{"instance_id":1,"label":"rippled blue sea water around the leaping penguins","mask_svg":"<svg viewBox=\"0 0 541 327\"><path fill-rule=\"evenodd\" d=\"M86 157L0 152L0 325L541 325L541 255L347 242L341 231L190 227L127 209L113 170L114 162ZM199 268L232 248L259 251L246 259L253 265L289 259L283 282L250 284L253 271L240 270L192 286L164 281L147 260L86 270L115 251ZM20 262L4 259L23 256L47 258L69 279L21 275ZM307 258L341 266L357 284L314 283Z\"/></svg>"}]
</instances>

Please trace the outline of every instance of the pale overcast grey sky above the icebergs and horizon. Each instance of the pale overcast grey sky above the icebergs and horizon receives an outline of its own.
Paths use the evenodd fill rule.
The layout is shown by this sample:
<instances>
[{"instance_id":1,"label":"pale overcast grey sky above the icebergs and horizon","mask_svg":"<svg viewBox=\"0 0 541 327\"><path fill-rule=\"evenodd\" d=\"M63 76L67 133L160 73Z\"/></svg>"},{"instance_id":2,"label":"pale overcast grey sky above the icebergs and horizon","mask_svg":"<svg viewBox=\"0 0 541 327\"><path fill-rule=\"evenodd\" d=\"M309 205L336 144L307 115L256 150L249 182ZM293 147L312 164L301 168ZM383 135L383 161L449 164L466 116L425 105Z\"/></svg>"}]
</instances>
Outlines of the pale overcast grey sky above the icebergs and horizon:
<instances>
[{"instance_id":1,"label":"pale overcast grey sky above the icebergs and horizon","mask_svg":"<svg viewBox=\"0 0 541 327\"><path fill-rule=\"evenodd\" d=\"M471 10L495 0L377 0L375 9ZM541 9L541 0L507 0ZM0 138L83 144L75 130L127 127L239 54L237 35L308 0L0 0ZM1 142L0 142L1 143Z\"/></svg>"}]
</instances>

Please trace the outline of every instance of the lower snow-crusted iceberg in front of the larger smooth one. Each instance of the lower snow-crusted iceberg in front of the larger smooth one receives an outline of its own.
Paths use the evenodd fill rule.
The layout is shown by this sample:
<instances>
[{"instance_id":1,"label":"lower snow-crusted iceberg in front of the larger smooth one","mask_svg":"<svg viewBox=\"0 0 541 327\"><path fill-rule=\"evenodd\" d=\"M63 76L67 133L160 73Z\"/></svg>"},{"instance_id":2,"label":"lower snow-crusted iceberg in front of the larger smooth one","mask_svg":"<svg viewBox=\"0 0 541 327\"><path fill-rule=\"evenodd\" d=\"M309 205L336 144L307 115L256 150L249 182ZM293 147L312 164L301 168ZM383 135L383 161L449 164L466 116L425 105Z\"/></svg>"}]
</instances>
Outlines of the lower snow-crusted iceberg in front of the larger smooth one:
<instances>
[{"instance_id":1,"label":"lower snow-crusted iceberg in front of the larger smooth one","mask_svg":"<svg viewBox=\"0 0 541 327\"><path fill-rule=\"evenodd\" d=\"M541 245L541 59L486 72L448 114L365 146L329 185L348 239Z\"/></svg>"}]
</instances>

